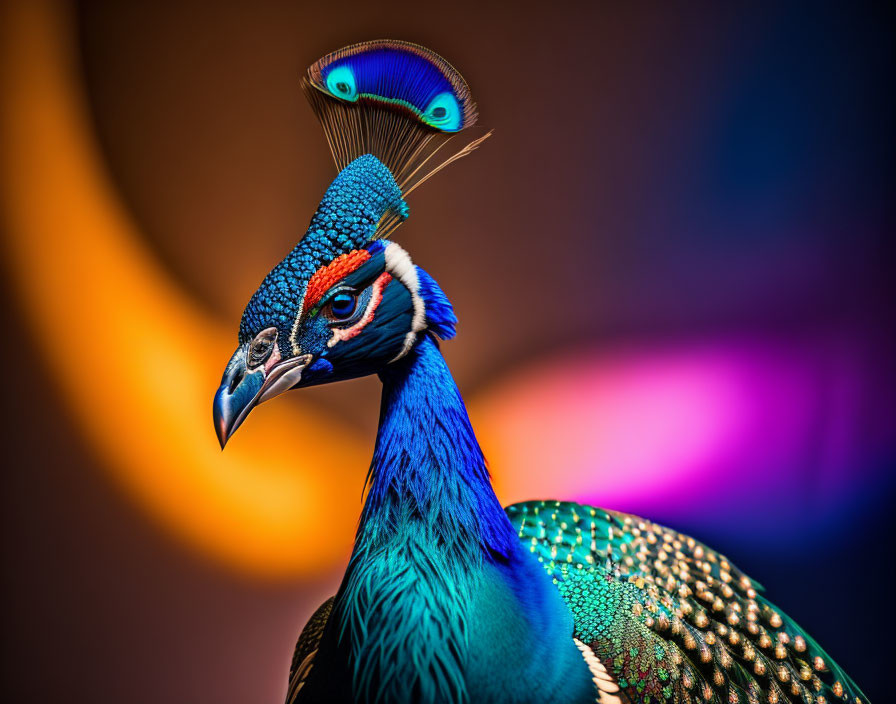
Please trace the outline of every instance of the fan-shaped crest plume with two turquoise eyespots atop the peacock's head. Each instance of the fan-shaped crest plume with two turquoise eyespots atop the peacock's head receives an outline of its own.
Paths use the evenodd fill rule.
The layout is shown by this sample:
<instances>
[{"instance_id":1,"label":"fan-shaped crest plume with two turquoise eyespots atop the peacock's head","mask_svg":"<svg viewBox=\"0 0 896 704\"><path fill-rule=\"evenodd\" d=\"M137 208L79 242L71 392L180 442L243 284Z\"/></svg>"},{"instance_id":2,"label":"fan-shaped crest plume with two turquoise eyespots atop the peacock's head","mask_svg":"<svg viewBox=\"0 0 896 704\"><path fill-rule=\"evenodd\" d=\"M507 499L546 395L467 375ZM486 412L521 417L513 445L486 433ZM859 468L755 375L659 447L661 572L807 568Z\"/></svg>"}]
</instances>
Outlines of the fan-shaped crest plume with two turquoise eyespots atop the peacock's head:
<instances>
[{"instance_id":1,"label":"fan-shaped crest plume with two turquoise eyespots atop the peacock's head","mask_svg":"<svg viewBox=\"0 0 896 704\"><path fill-rule=\"evenodd\" d=\"M458 132L475 124L476 104L451 64L411 42L381 39L334 51L311 65L302 87L337 168L373 154L404 195L491 134L434 159ZM377 237L400 223L388 215Z\"/></svg>"}]
</instances>

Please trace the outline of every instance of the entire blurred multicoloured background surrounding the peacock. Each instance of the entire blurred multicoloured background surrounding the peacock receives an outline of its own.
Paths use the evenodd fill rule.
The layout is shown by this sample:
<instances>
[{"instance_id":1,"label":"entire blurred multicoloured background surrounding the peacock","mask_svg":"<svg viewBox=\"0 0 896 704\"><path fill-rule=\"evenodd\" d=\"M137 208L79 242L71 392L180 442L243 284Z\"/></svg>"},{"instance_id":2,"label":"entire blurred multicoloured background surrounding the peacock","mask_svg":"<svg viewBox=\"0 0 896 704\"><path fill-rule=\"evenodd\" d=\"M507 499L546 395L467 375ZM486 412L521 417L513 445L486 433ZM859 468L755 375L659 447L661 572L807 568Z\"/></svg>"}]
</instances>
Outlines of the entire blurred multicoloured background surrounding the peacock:
<instances>
[{"instance_id":1,"label":"entire blurred multicoloured background surrounding the peacock","mask_svg":"<svg viewBox=\"0 0 896 704\"><path fill-rule=\"evenodd\" d=\"M445 55L495 128L396 237L455 305L501 500L695 535L888 699L882 6L2 7L5 701L282 700L378 382L265 405L225 453L211 400L334 176L300 76L377 37Z\"/></svg>"}]
</instances>

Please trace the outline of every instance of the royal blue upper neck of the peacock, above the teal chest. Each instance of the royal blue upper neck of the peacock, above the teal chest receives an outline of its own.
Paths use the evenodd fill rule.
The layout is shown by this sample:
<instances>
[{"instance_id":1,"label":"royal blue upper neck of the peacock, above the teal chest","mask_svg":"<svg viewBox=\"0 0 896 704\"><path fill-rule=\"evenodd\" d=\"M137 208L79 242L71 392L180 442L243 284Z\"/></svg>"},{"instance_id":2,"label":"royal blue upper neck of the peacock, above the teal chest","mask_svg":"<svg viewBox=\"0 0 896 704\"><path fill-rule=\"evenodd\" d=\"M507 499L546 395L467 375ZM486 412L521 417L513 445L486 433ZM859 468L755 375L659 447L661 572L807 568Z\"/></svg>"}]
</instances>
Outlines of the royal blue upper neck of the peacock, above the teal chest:
<instances>
[{"instance_id":1,"label":"royal blue upper neck of the peacock, above the teal chest","mask_svg":"<svg viewBox=\"0 0 896 704\"><path fill-rule=\"evenodd\" d=\"M508 557L516 533L436 342L424 338L380 378L380 427L355 551L411 532L474 563Z\"/></svg>"}]
</instances>

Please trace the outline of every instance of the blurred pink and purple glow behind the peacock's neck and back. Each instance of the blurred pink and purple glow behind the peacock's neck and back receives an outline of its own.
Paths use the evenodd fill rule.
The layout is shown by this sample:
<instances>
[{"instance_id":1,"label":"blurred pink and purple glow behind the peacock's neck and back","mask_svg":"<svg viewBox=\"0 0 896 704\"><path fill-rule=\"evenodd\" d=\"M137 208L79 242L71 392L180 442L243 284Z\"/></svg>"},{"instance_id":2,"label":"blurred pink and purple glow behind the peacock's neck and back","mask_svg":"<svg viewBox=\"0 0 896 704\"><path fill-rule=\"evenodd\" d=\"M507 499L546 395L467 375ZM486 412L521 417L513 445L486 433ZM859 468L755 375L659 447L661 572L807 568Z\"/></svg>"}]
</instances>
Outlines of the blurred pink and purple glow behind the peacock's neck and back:
<instances>
[{"instance_id":1,"label":"blurred pink and purple glow behind the peacock's neck and back","mask_svg":"<svg viewBox=\"0 0 896 704\"><path fill-rule=\"evenodd\" d=\"M855 338L578 352L514 373L478 418L509 500L799 533L888 481L874 362Z\"/></svg>"}]
</instances>

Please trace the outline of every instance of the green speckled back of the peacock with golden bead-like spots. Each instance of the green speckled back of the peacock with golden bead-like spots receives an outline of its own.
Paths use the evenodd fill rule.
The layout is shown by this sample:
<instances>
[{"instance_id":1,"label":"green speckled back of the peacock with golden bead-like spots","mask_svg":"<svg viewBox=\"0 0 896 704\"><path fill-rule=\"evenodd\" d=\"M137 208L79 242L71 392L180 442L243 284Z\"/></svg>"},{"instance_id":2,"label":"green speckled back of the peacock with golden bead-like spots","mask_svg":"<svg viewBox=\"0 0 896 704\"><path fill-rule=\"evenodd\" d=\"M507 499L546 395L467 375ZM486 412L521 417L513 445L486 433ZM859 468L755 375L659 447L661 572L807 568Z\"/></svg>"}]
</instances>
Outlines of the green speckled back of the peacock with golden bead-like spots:
<instances>
[{"instance_id":1,"label":"green speckled back of the peacock with golden bead-like spots","mask_svg":"<svg viewBox=\"0 0 896 704\"><path fill-rule=\"evenodd\" d=\"M591 647L636 702L866 702L762 587L702 543L560 501L509 506Z\"/></svg>"}]
</instances>

